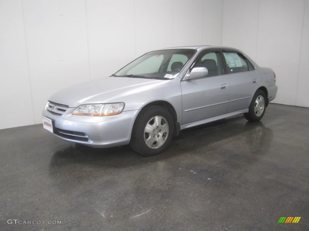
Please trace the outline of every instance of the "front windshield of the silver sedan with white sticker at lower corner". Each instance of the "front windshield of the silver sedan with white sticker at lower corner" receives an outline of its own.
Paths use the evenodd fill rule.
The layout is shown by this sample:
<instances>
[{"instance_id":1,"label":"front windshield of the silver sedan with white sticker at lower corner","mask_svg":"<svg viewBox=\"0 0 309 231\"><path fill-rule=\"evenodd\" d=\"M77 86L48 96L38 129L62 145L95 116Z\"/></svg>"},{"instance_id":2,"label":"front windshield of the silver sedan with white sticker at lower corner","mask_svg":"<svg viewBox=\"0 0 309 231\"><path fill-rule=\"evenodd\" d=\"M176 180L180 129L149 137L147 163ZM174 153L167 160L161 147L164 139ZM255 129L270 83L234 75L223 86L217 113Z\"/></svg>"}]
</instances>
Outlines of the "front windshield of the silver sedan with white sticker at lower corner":
<instances>
[{"instance_id":1,"label":"front windshield of the silver sedan with white sticker at lower corner","mask_svg":"<svg viewBox=\"0 0 309 231\"><path fill-rule=\"evenodd\" d=\"M195 51L193 49L151 51L135 59L113 76L173 79Z\"/></svg>"}]
</instances>

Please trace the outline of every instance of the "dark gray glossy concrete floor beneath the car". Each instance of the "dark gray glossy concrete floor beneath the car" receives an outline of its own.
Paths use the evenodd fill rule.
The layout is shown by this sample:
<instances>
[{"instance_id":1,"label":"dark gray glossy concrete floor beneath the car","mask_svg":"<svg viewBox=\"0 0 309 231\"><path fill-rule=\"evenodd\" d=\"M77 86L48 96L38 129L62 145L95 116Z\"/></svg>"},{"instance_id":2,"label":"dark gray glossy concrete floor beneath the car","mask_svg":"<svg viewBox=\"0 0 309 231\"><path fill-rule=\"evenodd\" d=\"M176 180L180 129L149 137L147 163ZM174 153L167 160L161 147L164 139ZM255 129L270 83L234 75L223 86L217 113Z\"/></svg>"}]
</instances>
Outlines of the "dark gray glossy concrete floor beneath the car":
<instances>
[{"instance_id":1,"label":"dark gray glossy concrete floor beneath the car","mask_svg":"<svg viewBox=\"0 0 309 231\"><path fill-rule=\"evenodd\" d=\"M309 230L308 128L309 108L270 104L260 122L184 130L153 157L2 129L0 230Z\"/></svg>"}]
</instances>

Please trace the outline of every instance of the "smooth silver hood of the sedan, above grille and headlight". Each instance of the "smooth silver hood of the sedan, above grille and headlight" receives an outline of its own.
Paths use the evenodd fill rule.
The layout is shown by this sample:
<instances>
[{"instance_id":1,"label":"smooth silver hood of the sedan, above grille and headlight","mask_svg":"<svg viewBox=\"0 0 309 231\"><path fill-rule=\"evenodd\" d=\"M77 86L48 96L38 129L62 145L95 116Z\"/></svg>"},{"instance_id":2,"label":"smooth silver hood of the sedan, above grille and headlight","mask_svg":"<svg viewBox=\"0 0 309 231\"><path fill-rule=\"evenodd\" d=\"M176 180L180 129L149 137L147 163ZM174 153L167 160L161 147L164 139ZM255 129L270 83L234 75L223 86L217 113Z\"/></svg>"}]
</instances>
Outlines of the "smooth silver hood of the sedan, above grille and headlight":
<instances>
[{"instance_id":1,"label":"smooth silver hood of the sedan, above grille and headlight","mask_svg":"<svg viewBox=\"0 0 309 231\"><path fill-rule=\"evenodd\" d=\"M167 82L169 80L104 77L66 87L53 94L49 100L69 107L89 103L123 102L129 94L146 91Z\"/></svg>"}]
</instances>

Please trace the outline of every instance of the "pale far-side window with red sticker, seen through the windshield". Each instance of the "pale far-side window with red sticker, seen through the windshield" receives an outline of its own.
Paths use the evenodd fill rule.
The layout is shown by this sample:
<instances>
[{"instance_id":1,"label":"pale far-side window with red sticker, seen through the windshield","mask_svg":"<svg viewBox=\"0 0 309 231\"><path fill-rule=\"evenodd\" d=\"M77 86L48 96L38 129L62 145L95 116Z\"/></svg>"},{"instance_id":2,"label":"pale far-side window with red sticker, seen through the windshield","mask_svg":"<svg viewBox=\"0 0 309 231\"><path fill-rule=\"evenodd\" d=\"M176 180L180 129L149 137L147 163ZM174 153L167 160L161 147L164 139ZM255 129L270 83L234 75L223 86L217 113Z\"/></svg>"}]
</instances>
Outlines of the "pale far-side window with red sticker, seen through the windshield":
<instances>
[{"instance_id":1,"label":"pale far-side window with red sticker, seen through the windshield","mask_svg":"<svg viewBox=\"0 0 309 231\"><path fill-rule=\"evenodd\" d=\"M131 70L127 72L127 75L142 75L142 74L149 74L149 73L156 73L159 71L159 67L163 61L163 55L155 55L151 56L150 58L146 59L142 63L138 64L137 66L133 67Z\"/></svg>"}]
</instances>

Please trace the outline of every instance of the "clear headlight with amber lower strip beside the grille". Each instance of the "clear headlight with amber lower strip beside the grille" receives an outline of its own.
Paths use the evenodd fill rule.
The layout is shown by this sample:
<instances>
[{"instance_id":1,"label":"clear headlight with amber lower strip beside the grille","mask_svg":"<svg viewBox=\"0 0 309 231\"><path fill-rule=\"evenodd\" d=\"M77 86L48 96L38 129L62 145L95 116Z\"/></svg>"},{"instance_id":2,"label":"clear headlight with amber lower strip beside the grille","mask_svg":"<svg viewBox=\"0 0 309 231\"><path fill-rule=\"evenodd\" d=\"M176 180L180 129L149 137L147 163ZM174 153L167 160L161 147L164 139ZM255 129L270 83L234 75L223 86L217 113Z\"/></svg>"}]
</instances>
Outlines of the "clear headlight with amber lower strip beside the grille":
<instances>
[{"instance_id":1,"label":"clear headlight with amber lower strip beside the grille","mask_svg":"<svg viewBox=\"0 0 309 231\"><path fill-rule=\"evenodd\" d=\"M84 104L75 108L72 115L107 116L118 115L125 103Z\"/></svg>"}]
</instances>

